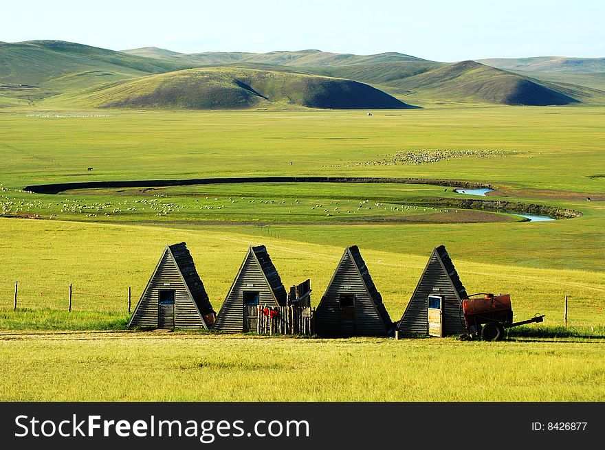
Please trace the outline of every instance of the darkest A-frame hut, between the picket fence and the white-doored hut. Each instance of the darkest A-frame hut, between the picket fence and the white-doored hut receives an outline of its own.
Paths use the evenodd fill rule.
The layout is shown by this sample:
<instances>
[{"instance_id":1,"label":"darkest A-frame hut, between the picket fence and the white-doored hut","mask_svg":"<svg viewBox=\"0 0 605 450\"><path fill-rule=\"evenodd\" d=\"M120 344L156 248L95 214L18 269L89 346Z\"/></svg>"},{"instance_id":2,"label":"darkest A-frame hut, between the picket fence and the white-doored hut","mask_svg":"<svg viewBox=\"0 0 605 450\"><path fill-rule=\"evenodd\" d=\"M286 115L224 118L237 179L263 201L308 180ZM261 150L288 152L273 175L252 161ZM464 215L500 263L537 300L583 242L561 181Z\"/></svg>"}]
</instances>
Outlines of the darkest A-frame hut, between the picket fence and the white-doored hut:
<instances>
[{"instance_id":1,"label":"darkest A-frame hut, between the picket fence and the white-doored hut","mask_svg":"<svg viewBox=\"0 0 605 450\"><path fill-rule=\"evenodd\" d=\"M316 334L327 337L391 332L391 318L356 245L344 250L317 306L314 325Z\"/></svg>"}]
</instances>

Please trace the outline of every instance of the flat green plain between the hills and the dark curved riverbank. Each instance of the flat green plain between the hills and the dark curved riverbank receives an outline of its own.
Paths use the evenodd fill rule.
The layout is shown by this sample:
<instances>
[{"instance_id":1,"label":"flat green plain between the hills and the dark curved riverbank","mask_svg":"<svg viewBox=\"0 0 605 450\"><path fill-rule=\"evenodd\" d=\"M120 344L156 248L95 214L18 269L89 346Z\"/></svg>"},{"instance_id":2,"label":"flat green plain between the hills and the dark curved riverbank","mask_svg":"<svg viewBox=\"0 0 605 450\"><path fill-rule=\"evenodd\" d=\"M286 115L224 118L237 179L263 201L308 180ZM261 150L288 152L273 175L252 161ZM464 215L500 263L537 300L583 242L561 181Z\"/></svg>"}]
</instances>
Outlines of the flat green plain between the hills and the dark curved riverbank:
<instances>
[{"instance_id":1,"label":"flat green plain between the hills and the dark curved riverbank","mask_svg":"<svg viewBox=\"0 0 605 450\"><path fill-rule=\"evenodd\" d=\"M603 192L602 107L408 111L3 110L2 183L245 175L364 175ZM357 164L397 150L496 149L505 158ZM292 164L290 164L292 163ZM87 172L87 168L94 170ZM562 175L563 174L563 175Z\"/></svg>"}]
</instances>

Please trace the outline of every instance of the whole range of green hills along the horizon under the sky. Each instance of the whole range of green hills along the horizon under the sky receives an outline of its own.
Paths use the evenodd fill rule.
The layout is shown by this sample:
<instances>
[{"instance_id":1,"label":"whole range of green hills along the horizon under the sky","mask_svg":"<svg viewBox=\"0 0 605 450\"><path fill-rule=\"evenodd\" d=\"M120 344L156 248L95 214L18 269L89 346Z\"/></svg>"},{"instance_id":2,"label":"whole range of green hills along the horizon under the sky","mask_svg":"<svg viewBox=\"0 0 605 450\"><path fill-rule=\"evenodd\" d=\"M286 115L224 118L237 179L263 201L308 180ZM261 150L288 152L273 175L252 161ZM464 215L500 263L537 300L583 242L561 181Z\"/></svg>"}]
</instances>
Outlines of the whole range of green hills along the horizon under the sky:
<instances>
[{"instance_id":1,"label":"whole range of green hills along the horizon under the sky","mask_svg":"<svg viewBox=\"0 0 605 450\"><path fill-rule=\"evenodd\" d=\"M157 108L249 108L263 102L361 109L402 108L410 103L605 104L605 71L599 71L604 60L550 56L485 60L492 66L503 67L499 69L474 61L439 63L397 52L354 55L305 49L265 54L181 54L158 47L115 52L65 41L25 41L0 43L0 107L37 104L58 95L61 98L56 104L65 106L69 106L65 103L68 99L83 102L85 98L91 100L89 106L111 104L107 98L101 101L99 93L118 86L122 86L119 95L111 89L105 94L118 95L113 104L121 102L123 107L140 103L144 98L156 105L148 107ZM218 70L195 76L179 74L196 67L222 68L222 73ZM233 72L228 69L281 75L253 76L250 84L244 78L229 78ZM153 95L135 88L152 89L144 77L169 73L173 76L157 78ZM126 80L133 80L133 84L124 83ZM180 92L177 80L182 85ZM234 85L236 80L252 91ZM186 83L191 83L190 93ZM120 96L126 93L125 86L132 87L132 95L129 93L132 101L126 102ZM170 100L168 91L177 98ZM226 95L226 100L216 98L219 92ZM200 95L209 97L203 100Z\"/></svg>"}]
</instances>

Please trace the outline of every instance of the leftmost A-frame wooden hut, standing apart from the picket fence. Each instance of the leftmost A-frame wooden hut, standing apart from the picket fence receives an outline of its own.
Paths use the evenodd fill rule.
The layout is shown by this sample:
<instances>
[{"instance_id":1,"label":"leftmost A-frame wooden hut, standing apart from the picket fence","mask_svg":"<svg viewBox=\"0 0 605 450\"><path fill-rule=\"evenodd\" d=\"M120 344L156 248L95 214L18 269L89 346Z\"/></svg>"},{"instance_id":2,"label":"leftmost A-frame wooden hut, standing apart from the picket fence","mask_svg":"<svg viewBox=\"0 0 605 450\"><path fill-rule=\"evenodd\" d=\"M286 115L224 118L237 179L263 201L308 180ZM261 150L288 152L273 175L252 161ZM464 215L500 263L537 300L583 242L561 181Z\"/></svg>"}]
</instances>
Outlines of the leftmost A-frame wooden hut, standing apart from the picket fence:
<instances>
[{"instance_id":1,"label":"leftmost A-frame wooden hut, standing apart from the picket fence","mask_svg":"<svg viewBox=\"0 0 605 450\"><path fill-rule=\"evenodd\" d=\"M216 314L185 243L166 245L128 326L210 328Z\"/></svg>"}]
</instances>

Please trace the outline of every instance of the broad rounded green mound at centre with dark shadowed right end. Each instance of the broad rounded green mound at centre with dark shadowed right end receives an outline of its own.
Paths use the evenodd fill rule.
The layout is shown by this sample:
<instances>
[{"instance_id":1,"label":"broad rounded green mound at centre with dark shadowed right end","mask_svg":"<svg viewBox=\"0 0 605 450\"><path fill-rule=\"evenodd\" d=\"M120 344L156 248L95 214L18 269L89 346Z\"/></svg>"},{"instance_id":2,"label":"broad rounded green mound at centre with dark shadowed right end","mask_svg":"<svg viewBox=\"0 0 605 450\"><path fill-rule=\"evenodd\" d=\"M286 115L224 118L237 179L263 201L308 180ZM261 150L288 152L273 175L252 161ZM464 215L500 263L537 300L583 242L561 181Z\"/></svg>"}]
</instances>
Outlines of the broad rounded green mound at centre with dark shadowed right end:
<instances>
[{"instance_id":1,"label":"broad rounded green mound at centre with dark shadowed right end","mask_svg":"<svg viewBox=\"0 0 605 450\"><path fill-rule=\"evenodd\" d=\"M413 107L356 81L225 67L147 76L50 100L56 105L137 109L250 109L273 103L326 109Z\"/></svg>"}]
</instances>

